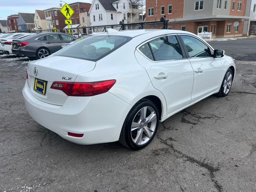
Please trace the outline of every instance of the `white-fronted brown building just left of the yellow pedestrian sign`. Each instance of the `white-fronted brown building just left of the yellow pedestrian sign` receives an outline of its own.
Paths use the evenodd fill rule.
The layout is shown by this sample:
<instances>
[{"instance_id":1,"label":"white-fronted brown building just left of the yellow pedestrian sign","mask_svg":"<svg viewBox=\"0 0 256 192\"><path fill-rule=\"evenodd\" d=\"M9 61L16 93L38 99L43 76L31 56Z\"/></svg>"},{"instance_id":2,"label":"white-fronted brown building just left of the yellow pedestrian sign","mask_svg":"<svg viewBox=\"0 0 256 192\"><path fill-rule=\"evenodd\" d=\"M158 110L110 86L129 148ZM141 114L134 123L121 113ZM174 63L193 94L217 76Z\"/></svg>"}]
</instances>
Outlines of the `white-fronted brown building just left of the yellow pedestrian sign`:
<instances>
[{"instance_id":1,"label":"white-fronted brown building just left of the yellow pedestrian sign","mask_svg":"<svg viewBox=\"0 0 256 192\"><path fill-rule=\"evenodd\" d=\"M59 32L66 26L65 24L66 18L60 12L61 8L62 8L62 4L60 4L60 6L52 7L44 10L45 19L46 19L46 28L48 30L52 30L55 27Z\"/></svg>"}]
</instances>

